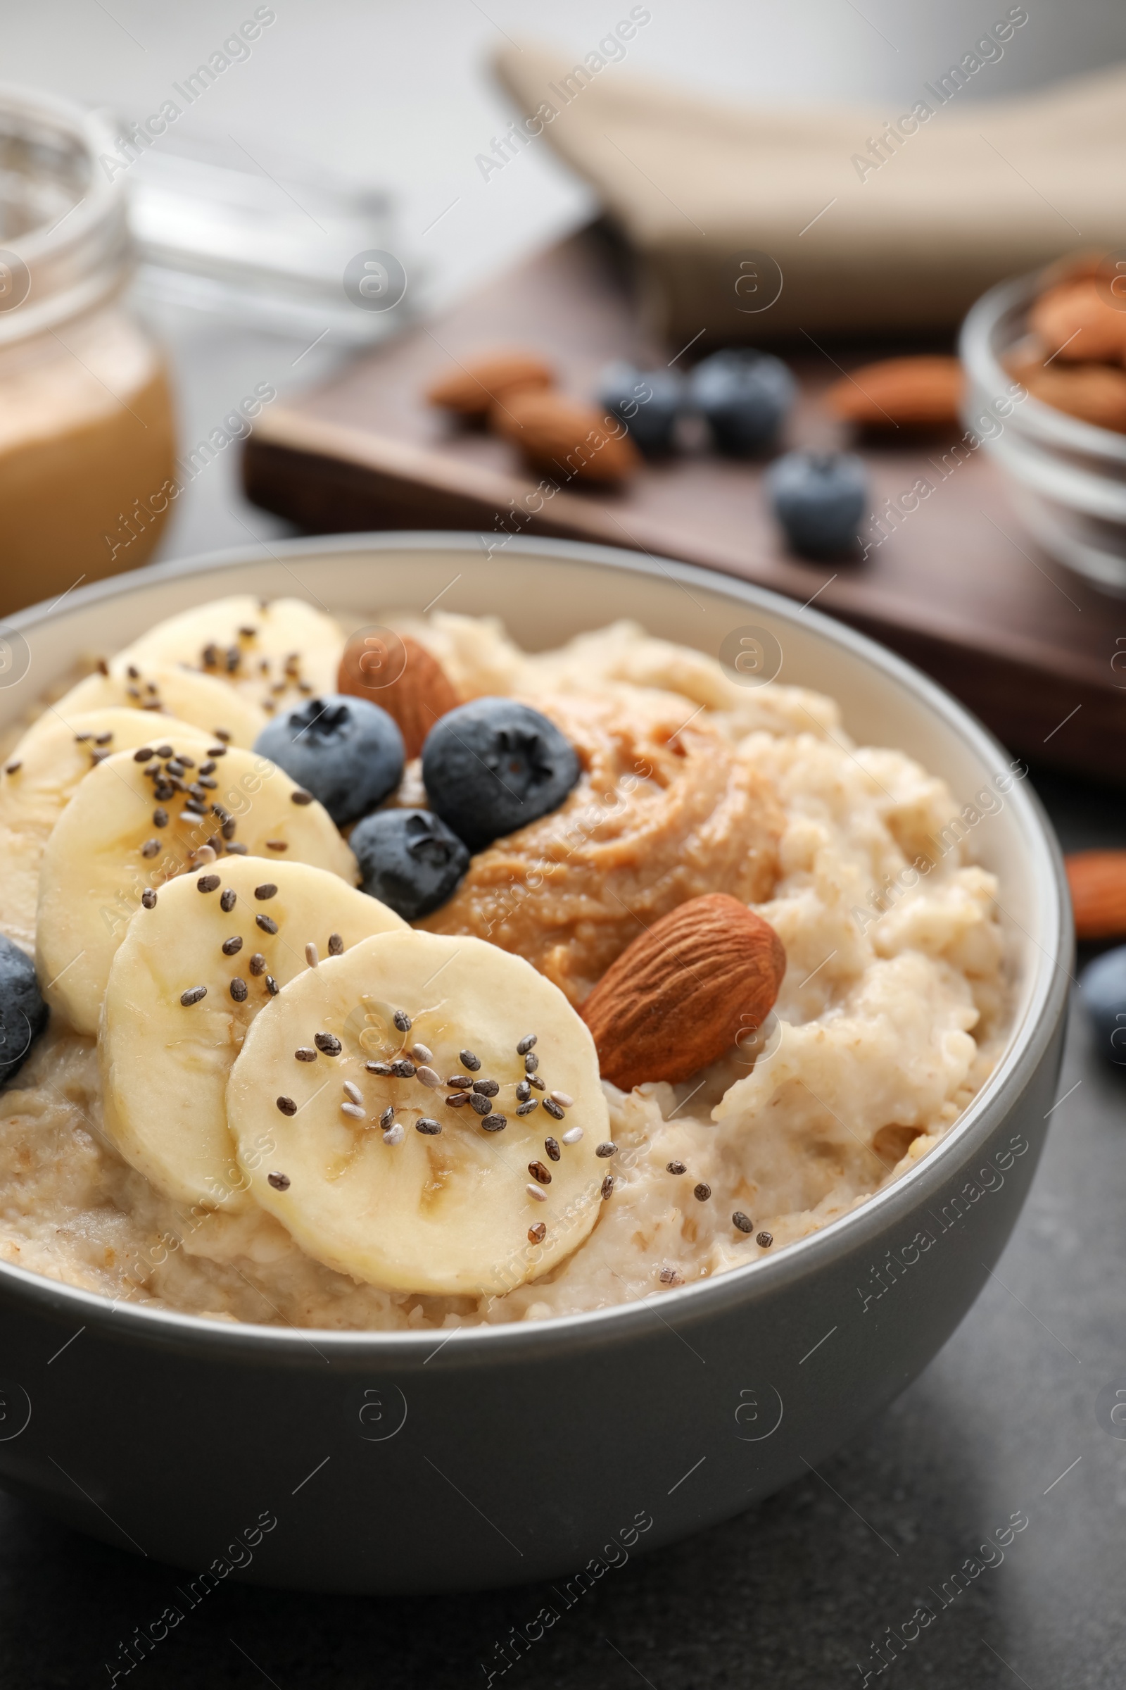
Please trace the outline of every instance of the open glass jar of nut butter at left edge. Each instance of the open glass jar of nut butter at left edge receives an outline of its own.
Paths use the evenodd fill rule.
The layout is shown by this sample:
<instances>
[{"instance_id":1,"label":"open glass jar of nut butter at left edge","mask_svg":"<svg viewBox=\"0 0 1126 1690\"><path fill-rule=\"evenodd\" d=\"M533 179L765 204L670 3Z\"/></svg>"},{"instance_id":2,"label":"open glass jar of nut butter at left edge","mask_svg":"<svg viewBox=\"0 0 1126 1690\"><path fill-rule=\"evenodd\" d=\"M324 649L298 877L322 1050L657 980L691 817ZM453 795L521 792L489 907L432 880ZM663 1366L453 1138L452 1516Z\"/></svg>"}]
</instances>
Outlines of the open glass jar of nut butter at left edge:
<instances>
[{"instance_id":1,"label":"open glass jar of nut butter at left edge","mask_svg":"<svg viewBox=\"0 0 1126 1690\"><path fill-rule=\"evenodd\" d=\"M0 86L0 615L145 563L177 490L103 154L100 117Z\"/></svg>"}]
</instances>

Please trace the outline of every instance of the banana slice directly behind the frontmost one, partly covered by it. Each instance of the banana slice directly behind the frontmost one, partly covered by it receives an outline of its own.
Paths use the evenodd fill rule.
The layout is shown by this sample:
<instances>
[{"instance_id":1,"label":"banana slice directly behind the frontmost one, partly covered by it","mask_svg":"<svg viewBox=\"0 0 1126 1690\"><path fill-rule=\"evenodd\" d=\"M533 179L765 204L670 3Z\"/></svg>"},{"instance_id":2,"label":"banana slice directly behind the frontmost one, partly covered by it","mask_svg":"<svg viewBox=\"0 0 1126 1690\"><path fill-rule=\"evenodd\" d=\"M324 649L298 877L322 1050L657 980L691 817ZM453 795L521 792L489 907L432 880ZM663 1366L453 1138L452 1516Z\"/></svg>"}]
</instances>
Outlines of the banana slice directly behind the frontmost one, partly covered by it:
<instances>
[{"instance_id":1,"label":"banana slice directly behind the frontmost one, partly covered by it","mask_svg":"<svg viewBox=\"0 0 1126 1690\"><path fill-rule=\"evenodd\" d=\"M219 886L201 896L201 875ZM277 933L263 933L258 914ZM101 1012L105 1127L122 1156L177 1203L252 1208L226 1127L226 1082L250 1022L279 985L316 968L307 945L321 958L346 955L405 926L387 904L300 862L225 857L169 880L130 921ZM270 1134L255 1154L273 1166Z\"/></svg>"}]
</instances>

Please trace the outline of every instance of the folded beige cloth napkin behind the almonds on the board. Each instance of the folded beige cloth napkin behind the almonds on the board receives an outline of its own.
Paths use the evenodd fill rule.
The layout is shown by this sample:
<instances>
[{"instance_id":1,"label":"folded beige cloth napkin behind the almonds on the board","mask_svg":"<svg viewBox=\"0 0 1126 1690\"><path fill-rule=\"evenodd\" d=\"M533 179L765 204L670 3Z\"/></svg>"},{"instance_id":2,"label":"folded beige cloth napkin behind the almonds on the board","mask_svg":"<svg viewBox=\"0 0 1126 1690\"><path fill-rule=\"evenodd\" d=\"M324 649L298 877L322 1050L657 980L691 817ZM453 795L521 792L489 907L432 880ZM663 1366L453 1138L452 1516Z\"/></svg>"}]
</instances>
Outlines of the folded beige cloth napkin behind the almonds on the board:
<instances>
[{"instance_id":1,"label":"folded beige cloth napkin behind the almonds on the board","mask_svg":"<svg viewBox=\"0 0 1126 1690\"><path fill-rule=\"evenodd\" d=\"M493 162L547 144L584 176L675 341L945 328L1006 275L1126 247L1126 66L993 101L966 66L913 112L738 110L530 44L496 69L522 118Z\"/></svg>"}]
</instances>

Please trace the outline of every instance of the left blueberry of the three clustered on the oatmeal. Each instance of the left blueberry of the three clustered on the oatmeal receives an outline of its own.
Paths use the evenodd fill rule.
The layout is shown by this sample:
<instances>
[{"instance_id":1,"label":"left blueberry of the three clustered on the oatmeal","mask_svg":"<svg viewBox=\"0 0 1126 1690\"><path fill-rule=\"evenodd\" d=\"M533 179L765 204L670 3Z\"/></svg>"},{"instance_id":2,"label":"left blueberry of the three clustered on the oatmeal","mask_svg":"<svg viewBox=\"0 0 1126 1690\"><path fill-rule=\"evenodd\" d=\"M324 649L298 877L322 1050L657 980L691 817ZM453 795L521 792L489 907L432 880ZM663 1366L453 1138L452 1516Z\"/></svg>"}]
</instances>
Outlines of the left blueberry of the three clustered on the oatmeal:
<instances>
[{"instance_id":1,"label":"left blueberry of the three clustered on the oatmeal","mask_svg":"<svg viewBox=\"0 0 1126 1690\"><path fill-rule=\"evenodd\" d=\"M403 737L366 698L324 693L268 722L255 750L319 798L343 826L366 816L403 776Z\"/></svg>"}]
</instances>

